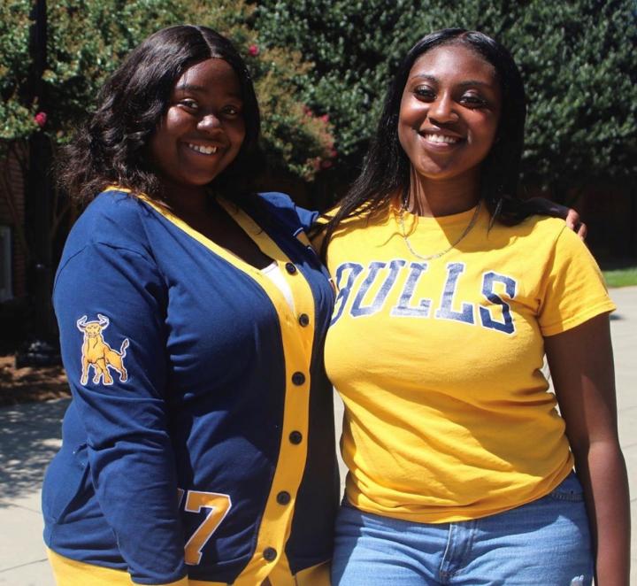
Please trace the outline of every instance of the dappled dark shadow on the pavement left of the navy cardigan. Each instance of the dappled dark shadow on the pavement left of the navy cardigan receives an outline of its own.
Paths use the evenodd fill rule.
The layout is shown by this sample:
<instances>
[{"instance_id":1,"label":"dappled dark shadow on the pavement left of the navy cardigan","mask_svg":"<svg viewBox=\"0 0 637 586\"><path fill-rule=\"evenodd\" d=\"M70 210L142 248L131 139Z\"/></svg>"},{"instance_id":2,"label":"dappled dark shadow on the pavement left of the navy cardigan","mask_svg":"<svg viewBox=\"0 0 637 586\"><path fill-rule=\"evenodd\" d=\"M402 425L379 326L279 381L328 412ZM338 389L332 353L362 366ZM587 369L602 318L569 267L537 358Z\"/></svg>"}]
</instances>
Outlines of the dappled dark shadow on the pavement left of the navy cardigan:
<instances>
[{"instance_id":1,"label":"dappled dark shadow on the pavement left of the navy cardigan","mask_svg":"<svg viewBox=\"0 0 637 586\"><path fill-rule=\"evenodd\" d=\"M0 508L4 498L40 490L46 466L60 445L69 402L59 399L0 409Z\"/></svg>"}]
</instances>

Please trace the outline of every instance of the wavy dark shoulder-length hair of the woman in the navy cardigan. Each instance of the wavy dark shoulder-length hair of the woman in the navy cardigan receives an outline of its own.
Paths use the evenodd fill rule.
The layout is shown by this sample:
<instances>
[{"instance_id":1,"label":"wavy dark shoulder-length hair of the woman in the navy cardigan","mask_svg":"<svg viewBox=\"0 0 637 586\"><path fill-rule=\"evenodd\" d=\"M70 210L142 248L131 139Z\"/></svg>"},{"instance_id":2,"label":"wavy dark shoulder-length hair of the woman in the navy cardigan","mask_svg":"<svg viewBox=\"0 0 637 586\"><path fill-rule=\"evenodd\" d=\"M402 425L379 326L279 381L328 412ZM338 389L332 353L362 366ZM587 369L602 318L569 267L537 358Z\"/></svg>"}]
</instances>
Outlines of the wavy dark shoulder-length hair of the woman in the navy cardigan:
<instances>
[{"instance_id":1,"label":"wavy dark shoulder-length hair of the woman in the navy cardigan","mask_svg":"<svg viewBox=\"0 0 637 586\"><path fill-rule=\"evenodd\" d=\"M161 183L148 155L151 135L167 112L174 83L196 63L226 61L241 91L246 134L234 161L211 182L237 195L252 190L263 158L258 152L260 116L257 96L233 44L211 28L167 27L136 47L105 82L96 112L79 128L63 151L58 179L73 199L87 203L109 184L163 199Z\"/></svg>"}]
</instances>

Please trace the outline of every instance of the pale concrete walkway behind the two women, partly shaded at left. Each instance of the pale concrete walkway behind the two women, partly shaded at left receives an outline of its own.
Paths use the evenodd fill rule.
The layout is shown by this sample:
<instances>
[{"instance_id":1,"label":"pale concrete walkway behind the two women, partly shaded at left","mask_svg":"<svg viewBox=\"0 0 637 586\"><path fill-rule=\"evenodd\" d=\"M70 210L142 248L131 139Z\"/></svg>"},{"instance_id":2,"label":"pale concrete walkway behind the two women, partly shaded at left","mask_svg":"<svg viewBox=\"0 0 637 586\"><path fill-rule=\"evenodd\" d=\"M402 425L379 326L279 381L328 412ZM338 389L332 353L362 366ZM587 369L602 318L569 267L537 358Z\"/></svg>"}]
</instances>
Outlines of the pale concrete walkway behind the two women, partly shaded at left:
<instances>
[{"instance_id":1,"label":"pale concrete walkway behind the two women, partly shaded at left","mask_svg":"<svg viewBox=\"0 0 637 586\"><path fill-rule=\"evenodd\" d=\"M631 484L637 568L637 287L611 289L619 436ZM0 409L0 585L54 586L42 545L40 484L59 445L68 400ZM337 405L340 425L342 405ZM342 474L344 477L344 474ZM637 584L637 569L633 571Z\"/></svg>"}]
</instances>

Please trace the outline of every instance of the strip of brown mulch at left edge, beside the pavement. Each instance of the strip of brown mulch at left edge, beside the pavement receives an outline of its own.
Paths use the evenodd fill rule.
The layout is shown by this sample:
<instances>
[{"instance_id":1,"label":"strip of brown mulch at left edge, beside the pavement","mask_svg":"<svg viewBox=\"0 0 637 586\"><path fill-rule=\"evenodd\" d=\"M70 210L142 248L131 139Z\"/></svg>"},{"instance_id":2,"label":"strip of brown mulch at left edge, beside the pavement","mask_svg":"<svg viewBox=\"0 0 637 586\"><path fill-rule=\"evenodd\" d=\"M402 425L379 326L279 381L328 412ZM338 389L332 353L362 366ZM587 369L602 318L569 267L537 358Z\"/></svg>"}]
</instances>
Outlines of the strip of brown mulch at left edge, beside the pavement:
<instances>
[{"instance_id":1,"label":"strip of brown mulch at left edge, beside the pavement","mask_svg":"<svg viewBox=\"0 0 637 586\"><path fill-rule=\"evenodd\" d=\"M62 366L16 368L13 356L0 356L0 406L69 396Z\"/></svg>"}]
</instances>

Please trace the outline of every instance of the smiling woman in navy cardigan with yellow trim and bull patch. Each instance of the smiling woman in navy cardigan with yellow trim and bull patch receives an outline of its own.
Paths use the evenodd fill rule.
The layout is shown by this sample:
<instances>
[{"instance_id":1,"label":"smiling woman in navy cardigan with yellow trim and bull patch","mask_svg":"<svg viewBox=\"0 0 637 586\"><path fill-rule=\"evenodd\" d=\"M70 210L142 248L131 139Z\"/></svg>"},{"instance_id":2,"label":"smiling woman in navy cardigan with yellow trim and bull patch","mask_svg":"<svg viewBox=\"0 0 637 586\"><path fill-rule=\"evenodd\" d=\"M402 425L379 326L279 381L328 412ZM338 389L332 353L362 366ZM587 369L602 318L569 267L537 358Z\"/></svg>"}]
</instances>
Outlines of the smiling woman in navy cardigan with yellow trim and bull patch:
<instances>
[{"instance_id":1,"label":"smiling woman in navy cardigan with yellow trim and bull patch","mask_svg":"<svg viewBox=\"0 0 637 586\"><path fill-rule=\"evenodd\" d=\"M303 212L252 187L258 133L232 44L179 26L132 51L66 151L90 204L53 293L73 393L42 490L60 586L329 582L334 293Z\"/></svg>"}]
</instances>

